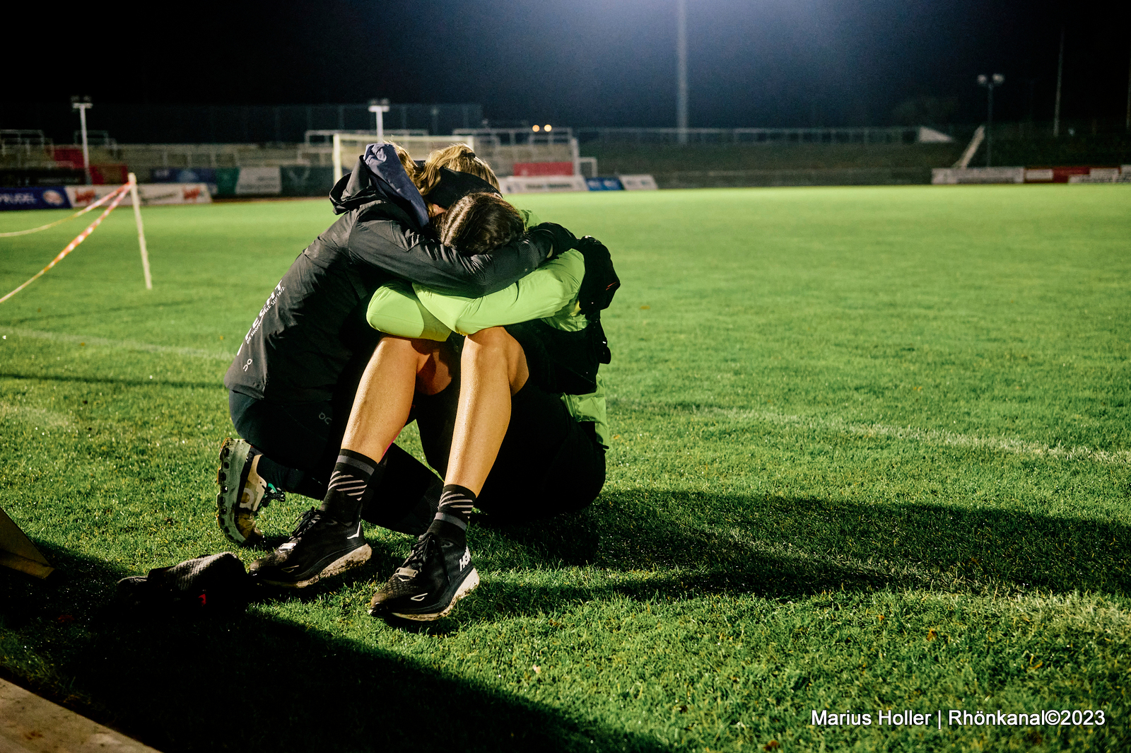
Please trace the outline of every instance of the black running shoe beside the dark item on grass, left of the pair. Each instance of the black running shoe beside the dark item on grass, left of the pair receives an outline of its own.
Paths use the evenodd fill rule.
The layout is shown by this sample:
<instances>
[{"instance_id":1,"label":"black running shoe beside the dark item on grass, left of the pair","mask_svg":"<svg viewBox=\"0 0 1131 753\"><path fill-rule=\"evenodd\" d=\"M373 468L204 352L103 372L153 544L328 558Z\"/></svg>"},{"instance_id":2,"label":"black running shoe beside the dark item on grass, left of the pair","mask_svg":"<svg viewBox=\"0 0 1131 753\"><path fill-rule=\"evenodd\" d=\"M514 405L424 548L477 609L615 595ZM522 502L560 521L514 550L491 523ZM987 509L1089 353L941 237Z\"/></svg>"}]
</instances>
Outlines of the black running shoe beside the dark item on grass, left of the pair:
<instances>
[{"instance_id":1,"label":"black running shoe beside the dark item on grass, left of the pair","mask_svg":"<svg viewBox=\"0 0 1131 753\"><path fill-rule=\"evenodd\" d=\"M264 583L305 588L319 578L365 564L371 554L361 520L343 523L318 510L308 510L291 540L252 562L248 570Z\"/></svg>"}]
</instances>

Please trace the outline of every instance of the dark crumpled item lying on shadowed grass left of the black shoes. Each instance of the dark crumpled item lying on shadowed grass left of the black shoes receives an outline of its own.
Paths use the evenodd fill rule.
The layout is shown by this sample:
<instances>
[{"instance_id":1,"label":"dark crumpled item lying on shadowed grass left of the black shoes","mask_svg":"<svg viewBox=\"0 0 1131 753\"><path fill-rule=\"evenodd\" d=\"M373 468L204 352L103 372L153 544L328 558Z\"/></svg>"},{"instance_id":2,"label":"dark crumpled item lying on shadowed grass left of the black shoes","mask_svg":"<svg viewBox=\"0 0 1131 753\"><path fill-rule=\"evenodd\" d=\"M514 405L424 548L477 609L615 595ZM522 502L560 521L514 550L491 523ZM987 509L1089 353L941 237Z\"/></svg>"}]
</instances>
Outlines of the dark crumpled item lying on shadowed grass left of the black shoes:
<instances>
[{"instance_id":1,"label":"dark crumpled item lying on shadowed grass left of the black shoes","mask_svg":"<svg viewBox=\"0 0 1131 753\"><path fill-rule=\"evenodd\" d=\"M241 609L248 604L251 579L231 552L154 568L146 577L118 581L118 600L138 609L175 609L193 614Z\"/></svg>"}]
</instances>

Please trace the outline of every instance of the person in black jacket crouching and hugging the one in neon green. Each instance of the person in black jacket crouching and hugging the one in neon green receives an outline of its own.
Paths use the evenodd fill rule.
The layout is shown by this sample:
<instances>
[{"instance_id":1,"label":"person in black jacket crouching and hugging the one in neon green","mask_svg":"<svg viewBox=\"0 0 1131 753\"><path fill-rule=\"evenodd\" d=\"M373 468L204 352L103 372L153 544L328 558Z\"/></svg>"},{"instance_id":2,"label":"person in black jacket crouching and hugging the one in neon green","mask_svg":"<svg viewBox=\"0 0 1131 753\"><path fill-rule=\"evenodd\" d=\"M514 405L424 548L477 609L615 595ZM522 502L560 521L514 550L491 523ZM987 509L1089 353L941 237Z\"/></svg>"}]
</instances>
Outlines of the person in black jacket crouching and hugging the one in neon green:
<instances>
[{"instance_id":1,"label":"person in black jacket crouching and hugging the one in neon green","mask_svg":"<svg viewBox=\"0 0 1131 753\"><path fill-rule=\"evenodd\" d=\"M491 254L458 253L437 239L431 217L470 190L498 190L498 180L465 145L418 167L396 145L373 144L334 187L340 218L291 265L224 376L241 438L223 442L217 474L217 520L232 542L260 540L256 516L284 491L325 496L357 382L381 337L365 322L373 291L402 279L483 295L572 243L563 227L543 224ZM388 496L412 502L386 507L392 517L374 522L418 534L438 504L440 479L396 445L380 466L395 486Z\"/></svg>"}]
</instances>

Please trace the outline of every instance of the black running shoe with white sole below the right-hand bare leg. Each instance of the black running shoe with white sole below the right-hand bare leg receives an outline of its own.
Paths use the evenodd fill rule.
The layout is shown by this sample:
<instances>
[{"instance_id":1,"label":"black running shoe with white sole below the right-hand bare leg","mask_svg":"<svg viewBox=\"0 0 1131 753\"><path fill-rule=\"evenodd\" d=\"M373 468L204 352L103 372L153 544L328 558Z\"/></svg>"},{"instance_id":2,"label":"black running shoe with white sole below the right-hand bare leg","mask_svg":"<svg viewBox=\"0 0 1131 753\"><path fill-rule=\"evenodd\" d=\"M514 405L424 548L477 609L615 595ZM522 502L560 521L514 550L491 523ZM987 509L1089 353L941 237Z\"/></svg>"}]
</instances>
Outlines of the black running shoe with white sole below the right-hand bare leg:
<instances>
[{"instance_id":1,"label":"black running shoe with white sole below the right-hand bare leg","mask_svg":"<svg viewBox=\"0 0 1131 753\"><path fill-rule=\"evenodd\" d=\"M435 534L424 534L392 578L377 589L369 613L439 620L448 616L456 601L478 585L480 574L472 566L470 549Z\"/></svg>"}]
</instances>

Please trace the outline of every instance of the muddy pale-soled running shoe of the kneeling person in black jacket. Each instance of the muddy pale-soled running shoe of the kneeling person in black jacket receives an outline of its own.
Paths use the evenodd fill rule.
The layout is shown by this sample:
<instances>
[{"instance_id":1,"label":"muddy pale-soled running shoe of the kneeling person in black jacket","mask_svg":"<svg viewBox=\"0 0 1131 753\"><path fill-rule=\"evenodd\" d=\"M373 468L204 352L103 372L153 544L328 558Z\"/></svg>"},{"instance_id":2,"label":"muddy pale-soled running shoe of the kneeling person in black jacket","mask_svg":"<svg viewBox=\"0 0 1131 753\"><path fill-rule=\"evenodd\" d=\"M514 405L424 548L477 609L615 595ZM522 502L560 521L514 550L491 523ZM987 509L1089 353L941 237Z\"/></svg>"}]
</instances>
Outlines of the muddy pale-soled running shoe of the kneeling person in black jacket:
<instances>
[{"instance_id":1,"label":"muddy pale-soled running shoe of the kneeling person in black jacket","mask_svg":"<svg viewBox=\"0 0 1131 753\"><path fill-rule=\"evenodd\" d=\"M256 516L284 496L283 490L275 488L256 473L260 457L241 439L230 436L219 447L216 520L224 535L240 546L252 546L262 539L262 533L256 528Z\"/></svg>"}]
</instances>

